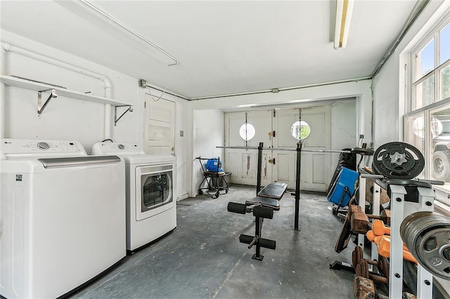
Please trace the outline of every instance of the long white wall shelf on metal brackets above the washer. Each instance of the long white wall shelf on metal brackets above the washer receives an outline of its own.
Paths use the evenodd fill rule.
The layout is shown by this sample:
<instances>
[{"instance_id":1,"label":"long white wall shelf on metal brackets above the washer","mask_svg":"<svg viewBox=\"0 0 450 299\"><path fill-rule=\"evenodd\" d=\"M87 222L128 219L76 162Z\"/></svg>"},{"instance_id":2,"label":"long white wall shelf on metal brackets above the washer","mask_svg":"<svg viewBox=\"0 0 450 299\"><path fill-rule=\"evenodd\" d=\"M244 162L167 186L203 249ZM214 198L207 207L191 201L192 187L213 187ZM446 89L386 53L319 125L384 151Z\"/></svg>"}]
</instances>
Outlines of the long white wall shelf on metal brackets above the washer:
<instances>
[{"instance_id":1,"label":"long white wall shelf on metal brackets above the washer","mask_svg":"<svg viewBox=\"0 0 450 299\"><path fill-rule=\"evenodd\" d=\"M25 89L30 89L32 91L38 91L38 92L39 91L51 91L52 89L54 89L56 91L56 93L58 94L58 96L77 99L77 100L98 102L100 104L110 104L113 106L129 105L126 102L117 102L115 100L98 97L96 95L80 93L79 91L70 91L68 89L61 88L58 86L51 86L51 85L42 84L39 82L28 81L25 79L20 79L20 78L6 76L6 75L0 75L0 81L8 86L15 86L18 88L25 88ZM131 106L131 105L129 105L129 106Z\"/></svg>"}]
</instances>

